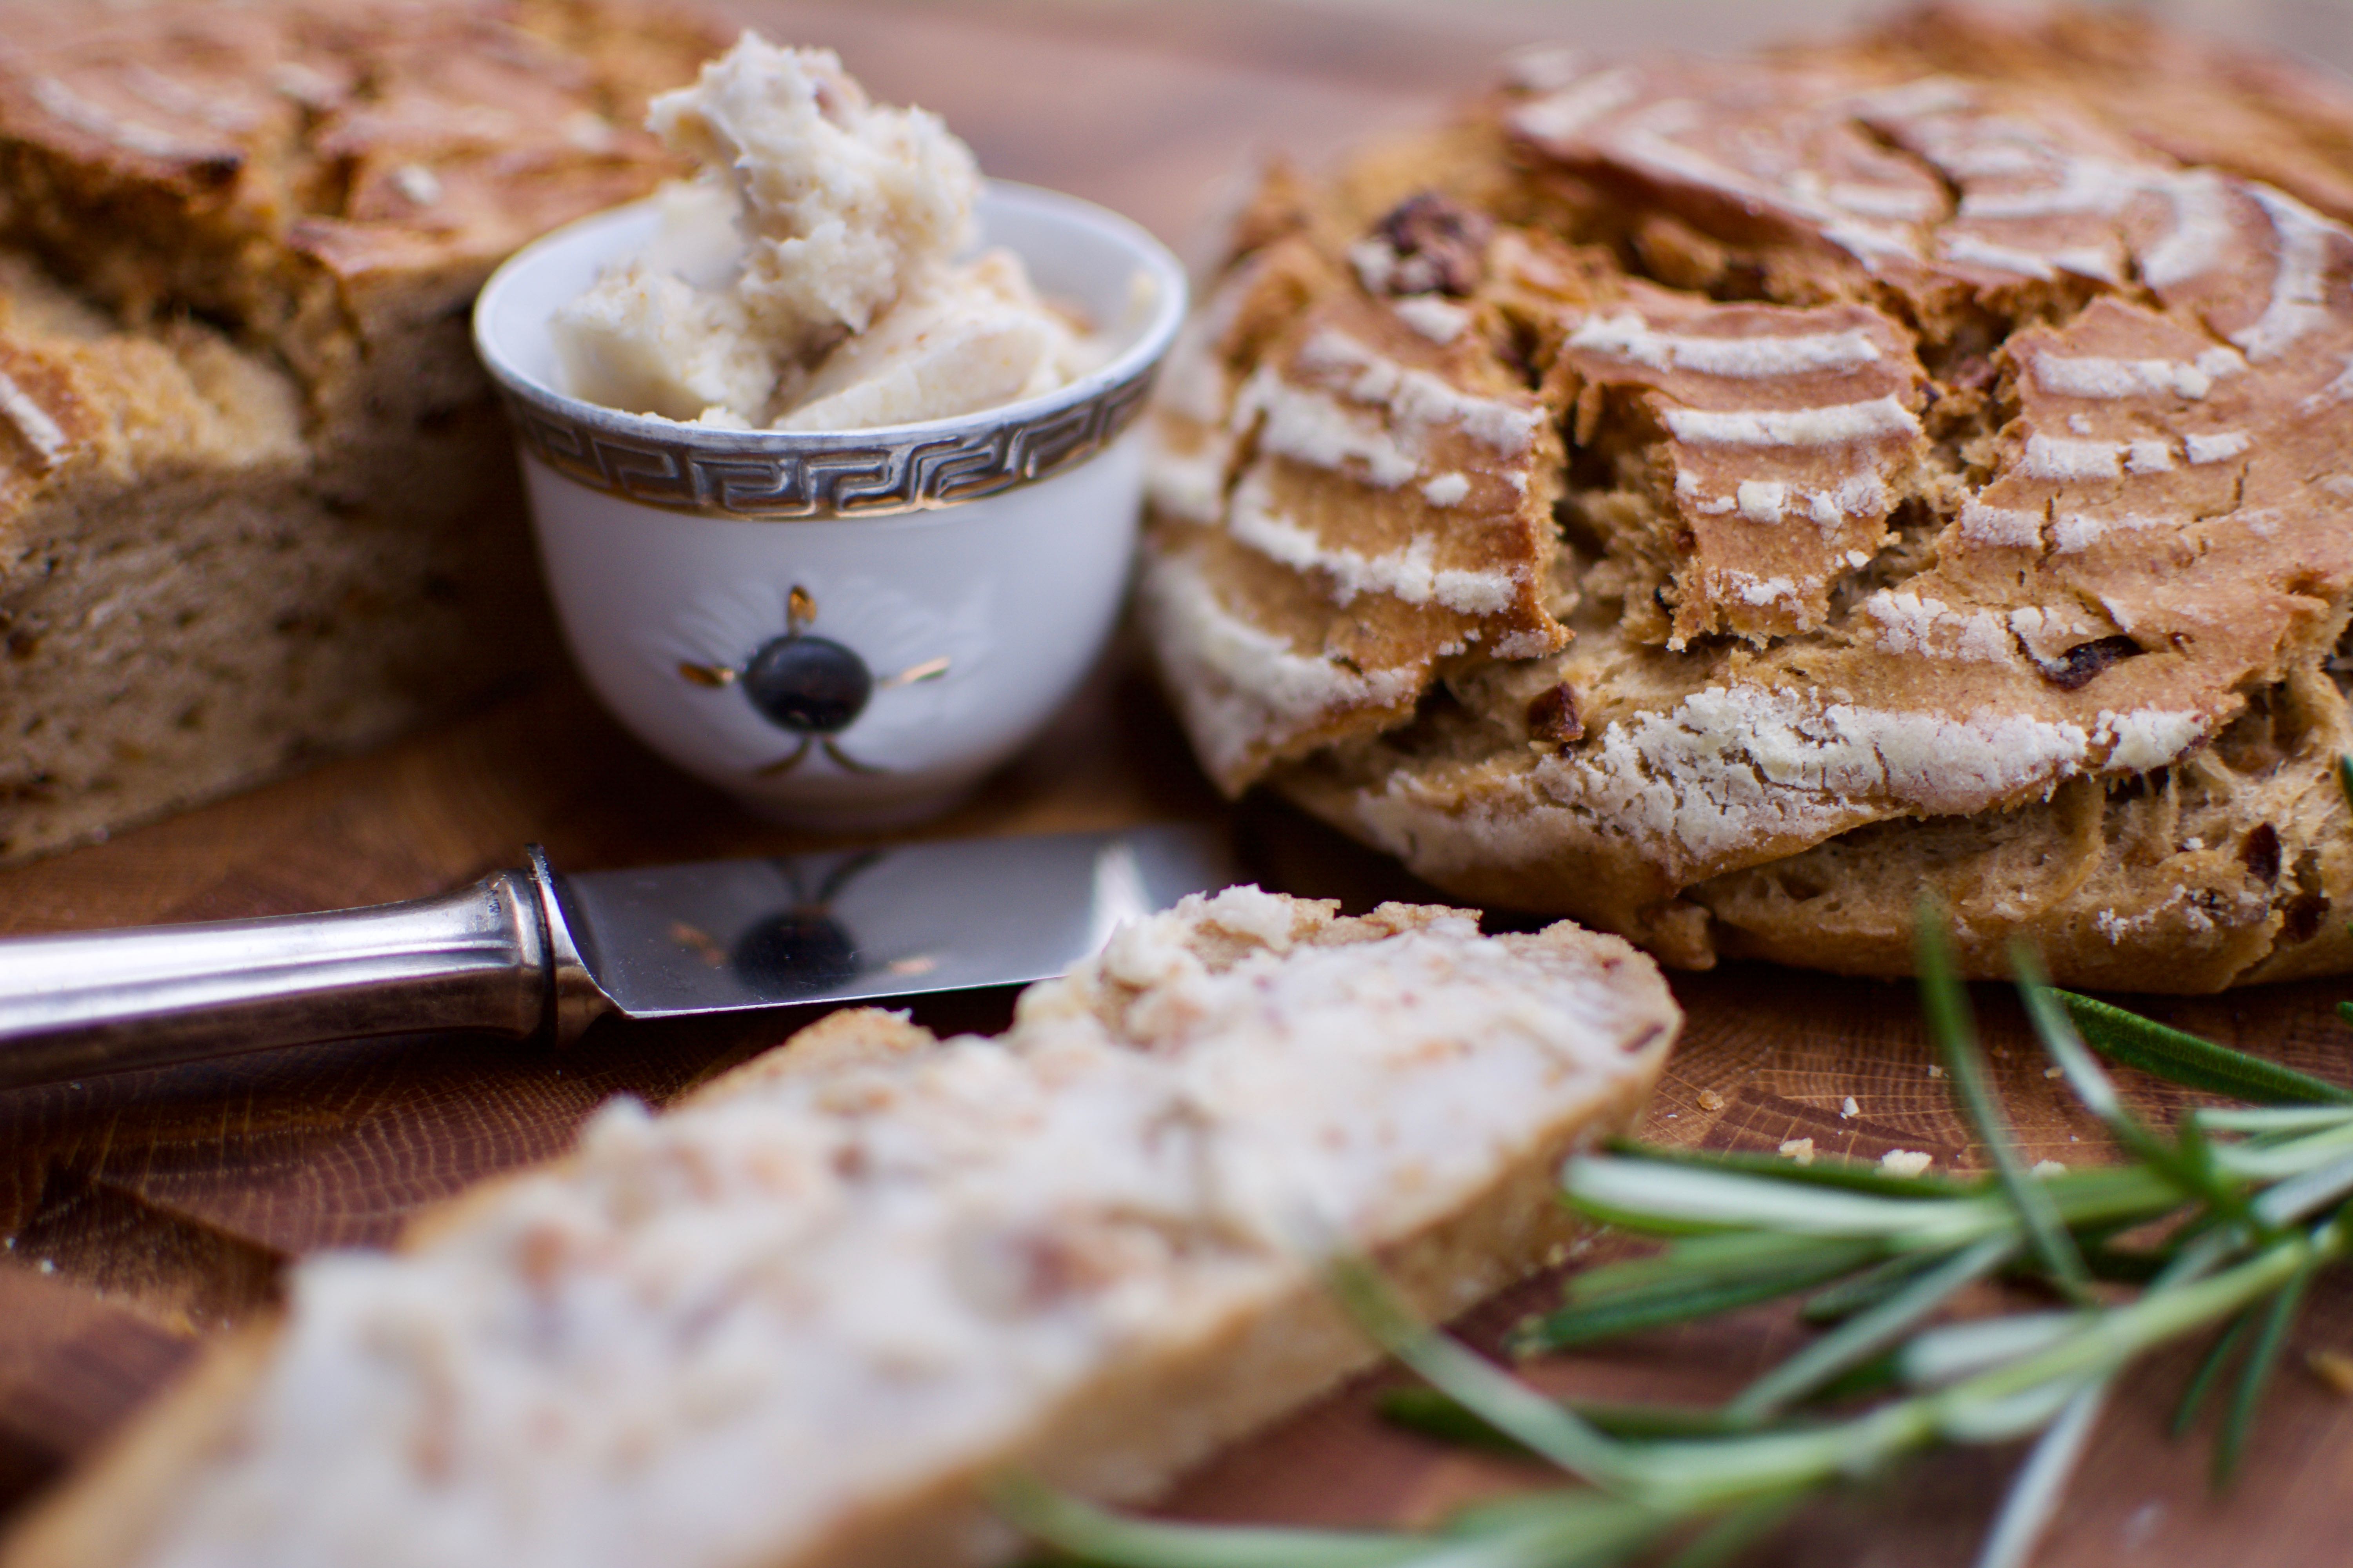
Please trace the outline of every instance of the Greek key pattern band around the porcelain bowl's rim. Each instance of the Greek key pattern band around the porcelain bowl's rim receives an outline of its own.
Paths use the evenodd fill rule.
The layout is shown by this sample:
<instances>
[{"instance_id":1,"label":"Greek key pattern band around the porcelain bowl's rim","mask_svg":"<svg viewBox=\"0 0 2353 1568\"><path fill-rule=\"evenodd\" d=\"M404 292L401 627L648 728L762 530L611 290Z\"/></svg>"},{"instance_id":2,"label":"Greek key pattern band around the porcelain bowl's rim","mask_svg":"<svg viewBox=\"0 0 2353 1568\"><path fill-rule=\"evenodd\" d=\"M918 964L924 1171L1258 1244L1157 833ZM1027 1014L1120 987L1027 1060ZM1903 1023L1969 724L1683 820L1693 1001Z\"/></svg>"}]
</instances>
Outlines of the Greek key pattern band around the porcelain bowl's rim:
<instances>
[{"instance_id":1,"label":"Greek key pattern band around the porcelain bowl's rim","mask_svg":"<svg viewBox=\"0 0 2353 1568\"><path fill-rule=\"evenodd\" d=\"M525 449L569 480L675 512L791 522L920 512L1045 480L1136 421L1153 369L1033 418L981 414L899 442L692 425L666 437L647 421L581 418L529 390L499 390Z\"/></svg>"}]
</instances>

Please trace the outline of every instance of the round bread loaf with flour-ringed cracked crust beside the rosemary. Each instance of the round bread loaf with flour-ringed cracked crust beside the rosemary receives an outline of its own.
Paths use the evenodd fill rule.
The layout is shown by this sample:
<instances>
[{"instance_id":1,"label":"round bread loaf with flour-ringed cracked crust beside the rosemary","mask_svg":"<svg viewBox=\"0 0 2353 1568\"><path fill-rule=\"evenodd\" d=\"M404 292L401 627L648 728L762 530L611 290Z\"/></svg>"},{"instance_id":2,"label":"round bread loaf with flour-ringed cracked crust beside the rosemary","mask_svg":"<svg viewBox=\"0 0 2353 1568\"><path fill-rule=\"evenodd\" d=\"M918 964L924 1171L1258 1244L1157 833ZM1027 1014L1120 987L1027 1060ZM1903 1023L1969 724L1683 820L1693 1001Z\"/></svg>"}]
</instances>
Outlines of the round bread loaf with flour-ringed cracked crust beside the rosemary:
<instances>
[{"instance_id":1,"label":"round bread loaf with flour-ringed cracked crust beside the rosemary","mask_svg":"<svg viewBox=\"0 0 2353 1568\"><path fill-rule=\"evenodd\" d=\"M2134 19L1934 9L1734 63L1525 54L1440 139L1273 179L1160 418L1146 604L1205 764L1685 966L1904 973L1922 891L1972 973L2014 936L2075 985L2353 966L2348 127ZM1400 266L1417 200L1468 261ZM1435 461L1285 444L1334 320L1544 409L1499 473L1558 496L1515 559L1553 628L1355 658L1492 524L1402 517ZM1459 324L1442 362L1421 322Z\"/></svg>"}]
</instances>

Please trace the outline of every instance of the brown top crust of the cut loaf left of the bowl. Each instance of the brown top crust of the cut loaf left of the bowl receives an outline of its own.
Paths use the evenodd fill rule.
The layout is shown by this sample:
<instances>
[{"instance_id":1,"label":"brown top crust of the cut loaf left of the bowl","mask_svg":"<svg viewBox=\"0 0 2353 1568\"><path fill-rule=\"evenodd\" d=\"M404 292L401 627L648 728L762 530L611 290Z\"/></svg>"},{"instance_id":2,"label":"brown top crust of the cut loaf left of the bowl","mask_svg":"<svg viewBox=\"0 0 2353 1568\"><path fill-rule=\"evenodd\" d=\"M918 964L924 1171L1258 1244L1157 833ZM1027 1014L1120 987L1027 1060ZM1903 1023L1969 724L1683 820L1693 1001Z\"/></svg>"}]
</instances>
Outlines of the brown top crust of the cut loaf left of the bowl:
<instances>
[{"instance_id":1,"label":"brown top crust of the cut loaf left of the bowl","mask_svg":"<svg viewBox=\"0 0 2353 1568\"><path fill-rule=\"evenodd\" d=\"M464 313L525 240L671 172L645 99L715 42L586 0L5 14L0 237L129 324L264 343L329 423L478 400L464 322L400 378L369 360Z\"/></svg>"}]
</instances>

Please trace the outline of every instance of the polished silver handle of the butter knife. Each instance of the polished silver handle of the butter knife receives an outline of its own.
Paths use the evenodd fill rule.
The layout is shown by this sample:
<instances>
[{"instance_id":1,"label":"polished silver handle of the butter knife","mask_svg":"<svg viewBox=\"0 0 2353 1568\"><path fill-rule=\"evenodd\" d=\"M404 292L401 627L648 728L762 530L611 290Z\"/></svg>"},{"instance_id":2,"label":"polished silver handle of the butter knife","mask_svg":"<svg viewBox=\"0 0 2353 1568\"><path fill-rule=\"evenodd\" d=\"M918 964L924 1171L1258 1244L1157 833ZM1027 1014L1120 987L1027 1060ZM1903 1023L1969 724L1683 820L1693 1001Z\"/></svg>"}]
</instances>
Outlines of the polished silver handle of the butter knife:
<instances>
[{"instance_id":1,"label":"polished silver handle of the butter knife","mask_svg":"<svg viewBox=\"0 0 2353 1568\"><path fill-rule=\"evenodd\" d=\"M0 1088L318 1039L574 1039L612 1001L546 856L438 898L0 940Z\"/></svg>"}]
</instances>

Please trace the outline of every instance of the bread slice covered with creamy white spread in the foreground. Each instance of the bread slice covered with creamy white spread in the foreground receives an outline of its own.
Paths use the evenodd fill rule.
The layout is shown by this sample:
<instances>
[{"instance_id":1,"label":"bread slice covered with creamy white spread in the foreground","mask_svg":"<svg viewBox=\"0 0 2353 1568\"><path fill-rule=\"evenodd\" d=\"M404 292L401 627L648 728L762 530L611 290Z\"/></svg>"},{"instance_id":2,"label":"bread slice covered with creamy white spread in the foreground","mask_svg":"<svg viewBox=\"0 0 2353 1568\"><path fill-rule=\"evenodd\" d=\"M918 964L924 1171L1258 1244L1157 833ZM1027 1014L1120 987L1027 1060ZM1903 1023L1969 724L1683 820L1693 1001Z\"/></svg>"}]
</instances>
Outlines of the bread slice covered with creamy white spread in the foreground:
<instances>
[{"instance_id":1,"label":"bread slice covered with creamy white spread in the foreground","mask_svg":"<svg viewBox=\"0 0 2353 1568\"><path fill-rule=\"evenodd\" d=\"M304 1262L0 1563L1005 1561L993 1474L1146 1497L1369 1361L1318 1253L1431 1314L1534 1267L1678 1027L1569 924L1188 898L1000 1039L835 1013Z\"/></svg>"}]
</instances>

